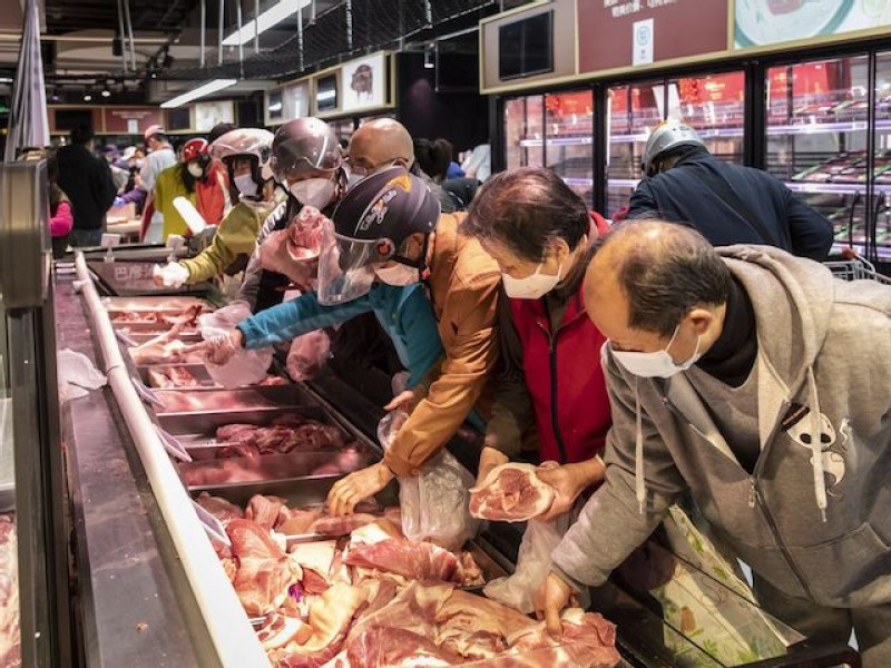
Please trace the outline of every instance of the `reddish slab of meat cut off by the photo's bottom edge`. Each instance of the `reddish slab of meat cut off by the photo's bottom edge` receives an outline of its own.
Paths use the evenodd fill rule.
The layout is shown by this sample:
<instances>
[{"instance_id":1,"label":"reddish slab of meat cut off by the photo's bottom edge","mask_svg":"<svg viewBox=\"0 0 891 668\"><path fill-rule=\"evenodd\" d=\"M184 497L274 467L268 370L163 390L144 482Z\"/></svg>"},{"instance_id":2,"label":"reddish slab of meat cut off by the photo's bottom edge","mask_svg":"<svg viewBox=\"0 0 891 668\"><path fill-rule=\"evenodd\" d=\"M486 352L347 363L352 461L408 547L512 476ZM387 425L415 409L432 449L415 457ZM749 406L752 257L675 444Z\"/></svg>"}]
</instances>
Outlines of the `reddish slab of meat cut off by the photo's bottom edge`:
<instances>
[{"instance_id":1,"label":"reddish slab of meat cut off by the photo's bottom edge","mask_svg":"<svg viewBox=\"0 0 891 668\"><path fill-rule=\"evenodd\" d=\"M350 644L346 660L350 666L363 668L435 668L463 662L460 655L438 647L429 638L400 628L365 629Z\"/></svg>"}]
</instances>

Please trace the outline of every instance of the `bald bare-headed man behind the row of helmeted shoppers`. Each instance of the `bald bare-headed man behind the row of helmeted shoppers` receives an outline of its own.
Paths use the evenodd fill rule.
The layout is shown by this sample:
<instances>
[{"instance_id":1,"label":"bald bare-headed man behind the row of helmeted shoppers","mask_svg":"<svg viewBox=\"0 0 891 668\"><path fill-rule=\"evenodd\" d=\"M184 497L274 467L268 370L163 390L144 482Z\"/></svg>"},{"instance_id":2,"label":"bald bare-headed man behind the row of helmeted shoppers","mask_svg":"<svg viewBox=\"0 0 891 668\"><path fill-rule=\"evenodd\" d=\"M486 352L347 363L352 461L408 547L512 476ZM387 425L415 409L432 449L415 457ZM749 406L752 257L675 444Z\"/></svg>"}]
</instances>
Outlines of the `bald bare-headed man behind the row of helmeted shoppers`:
<instances>
[{"instance_id":1,"label":"bald bare-headed man behind the row of helmeted shoppers","mask_svg":"<svg viewBox=\"0 0 891 668\"><path fill-rule=\"evenodd\" d=\"M437 194L443 214L457 210L454 199L418 166L411 134L398 120L376 118L360 126L350 138L347 155L351 175L362 178L396 165L405 167Z\"/></svg>"}]
</instances>

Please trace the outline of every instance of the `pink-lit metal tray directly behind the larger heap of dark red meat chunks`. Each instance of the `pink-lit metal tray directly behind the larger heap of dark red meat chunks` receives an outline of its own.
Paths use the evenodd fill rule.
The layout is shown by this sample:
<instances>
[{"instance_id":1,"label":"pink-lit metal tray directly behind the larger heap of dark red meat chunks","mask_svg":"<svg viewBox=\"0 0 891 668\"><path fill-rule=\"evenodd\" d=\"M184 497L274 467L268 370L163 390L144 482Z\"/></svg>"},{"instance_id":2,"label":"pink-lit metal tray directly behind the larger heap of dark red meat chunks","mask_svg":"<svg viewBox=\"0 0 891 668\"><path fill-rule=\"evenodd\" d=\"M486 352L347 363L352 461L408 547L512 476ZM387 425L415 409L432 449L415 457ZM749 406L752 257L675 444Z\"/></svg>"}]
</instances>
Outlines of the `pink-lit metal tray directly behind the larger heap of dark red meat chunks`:
<instances>
[{"instance_id":1,"label":"pink-lit metal tray directly behind the larger heap of dark red meat chunks","mask_svg":"<svg viewBox=\"0 0 891 668\"><path fill-rule=\"evenodd\" d=\"M156 413L177 415L203 413L205 415L223 415L222 424L242 422L238 415L281 411L282 409L301 409L309 400L297 385L256 385L236 390L158 390L158 399L168 407L158 409ZM182 395L182 396L180 396Z\"/></svg>"}]
</instances>

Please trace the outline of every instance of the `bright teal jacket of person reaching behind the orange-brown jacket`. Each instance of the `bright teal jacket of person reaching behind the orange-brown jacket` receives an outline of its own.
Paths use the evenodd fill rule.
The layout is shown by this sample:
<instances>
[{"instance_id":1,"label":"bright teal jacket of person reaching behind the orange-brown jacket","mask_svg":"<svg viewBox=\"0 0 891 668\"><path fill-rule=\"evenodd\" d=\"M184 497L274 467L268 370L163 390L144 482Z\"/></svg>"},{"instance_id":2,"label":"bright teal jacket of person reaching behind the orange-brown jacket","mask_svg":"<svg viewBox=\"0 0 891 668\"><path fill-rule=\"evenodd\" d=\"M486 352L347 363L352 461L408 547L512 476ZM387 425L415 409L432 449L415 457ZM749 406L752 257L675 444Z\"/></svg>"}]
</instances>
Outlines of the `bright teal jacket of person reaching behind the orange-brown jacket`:
<instances>
[{"instance_id":1,"label":"bright teal jacket of person reaching behind the orange-brown jacket","mask_svg":"<svg viewBox=\"0 0 891 668\"><path fill-rule=\"evenodd\" d=\"M375 283L366 295L336 306L323 306L315 292L307 292L242 321L239 343L248 350L286 343L371 312L409 372L408 389L413 387L443 354L433 308L419 283L407 287Z\"/></svg>"}]
</instances>

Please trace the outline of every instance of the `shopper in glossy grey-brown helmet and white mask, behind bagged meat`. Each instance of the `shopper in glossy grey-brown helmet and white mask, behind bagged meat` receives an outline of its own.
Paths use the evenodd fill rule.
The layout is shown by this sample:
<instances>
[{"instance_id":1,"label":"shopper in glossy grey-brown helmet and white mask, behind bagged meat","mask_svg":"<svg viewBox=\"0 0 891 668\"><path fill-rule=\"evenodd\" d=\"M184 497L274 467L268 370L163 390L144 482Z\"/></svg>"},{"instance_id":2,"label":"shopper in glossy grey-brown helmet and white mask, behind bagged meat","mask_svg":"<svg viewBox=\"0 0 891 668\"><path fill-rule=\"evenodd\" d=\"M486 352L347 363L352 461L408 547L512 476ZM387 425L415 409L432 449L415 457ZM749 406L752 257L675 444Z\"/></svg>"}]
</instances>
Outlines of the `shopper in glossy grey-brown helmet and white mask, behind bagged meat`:
<instances>
[{"instance_id":1,"label":"shopper in glossy grey-brown helmet and white mask, behind bagged meat","mask_svg":"<svg viewBox=\"0 0 891 668\"><path fill-rule=\"evenodd\" d=\"M298 118L286 122L275 134L272 155L264 178L274 178L287 193L266 218L257 237L257 249L251 257L238 301L246 302L253 313L260 313L282 302L292 279L263 267L261 247L274 232L295 224L304 206L331 214L346 191L346 174L340 144L329 125L317 118ZM315 274L314 261L306 262ZM309 285L298 287L306 288Z\"/></svg>"}]
</instances>

